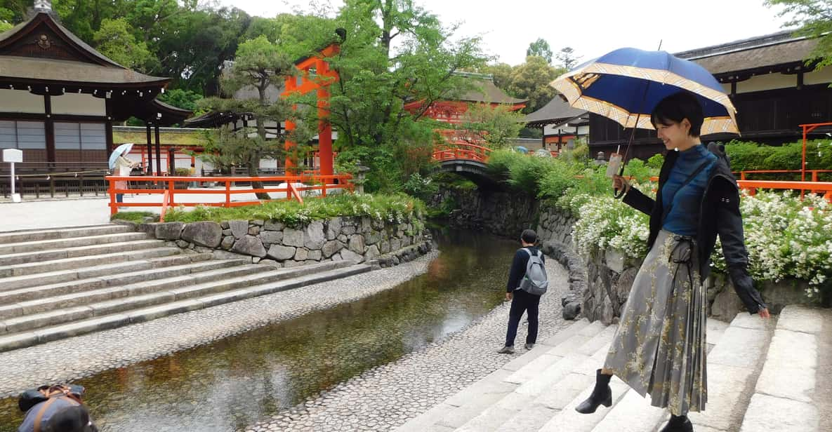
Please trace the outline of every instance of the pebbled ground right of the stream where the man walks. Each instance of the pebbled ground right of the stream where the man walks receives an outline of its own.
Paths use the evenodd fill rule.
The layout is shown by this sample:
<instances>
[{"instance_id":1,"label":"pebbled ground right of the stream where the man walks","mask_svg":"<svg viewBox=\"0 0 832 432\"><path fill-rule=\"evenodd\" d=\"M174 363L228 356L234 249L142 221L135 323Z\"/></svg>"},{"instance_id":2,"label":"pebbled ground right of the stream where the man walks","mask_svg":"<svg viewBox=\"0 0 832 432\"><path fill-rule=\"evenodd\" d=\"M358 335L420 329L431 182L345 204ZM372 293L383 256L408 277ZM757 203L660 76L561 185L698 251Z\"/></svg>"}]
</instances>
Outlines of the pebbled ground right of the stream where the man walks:
<instances>
[{"instance_id":1,"label":"pebbled ground right of the stream where the man walks","mask_svg":"<svg viewBox=\"0 0 832 432\"><path fill-rule=\"evenodd\" d=\"M549 291L540 302L538 340L545 340L572 322L561 317L560 297L568 289L567 271L547 260ZM348 380L247 432L276 430L394 430L459 390L522 355L497 354L508 323L508 302L494 308L463 331ZM526 326L518 330L521 347Z\"/></svg>"}]
</instances>

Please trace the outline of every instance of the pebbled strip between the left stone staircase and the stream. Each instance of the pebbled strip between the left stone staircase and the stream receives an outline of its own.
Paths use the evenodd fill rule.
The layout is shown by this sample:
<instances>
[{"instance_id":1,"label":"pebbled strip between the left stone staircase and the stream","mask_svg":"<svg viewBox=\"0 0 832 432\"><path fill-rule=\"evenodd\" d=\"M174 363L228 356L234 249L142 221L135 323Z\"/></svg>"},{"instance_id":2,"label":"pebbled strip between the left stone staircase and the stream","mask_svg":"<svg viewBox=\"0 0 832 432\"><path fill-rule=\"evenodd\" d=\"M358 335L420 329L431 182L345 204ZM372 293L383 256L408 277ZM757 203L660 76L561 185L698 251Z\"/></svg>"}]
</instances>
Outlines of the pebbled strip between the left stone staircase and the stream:
<instances>
[{"instance_id":1,"label":"pebbled strip between the left stone staircase and the stream","mask_svg":"<svg viewBox=\"0 0 832 432\"><path fill-rule=\"evenodd\" d=\"M66 382L151 360L271 322L354 302L427 271L437 252L393 268L208 307L151 322L0 353L0 397L44 382ZM59 357L61 361L55 361Z\"/></svg>"}]
</instances>

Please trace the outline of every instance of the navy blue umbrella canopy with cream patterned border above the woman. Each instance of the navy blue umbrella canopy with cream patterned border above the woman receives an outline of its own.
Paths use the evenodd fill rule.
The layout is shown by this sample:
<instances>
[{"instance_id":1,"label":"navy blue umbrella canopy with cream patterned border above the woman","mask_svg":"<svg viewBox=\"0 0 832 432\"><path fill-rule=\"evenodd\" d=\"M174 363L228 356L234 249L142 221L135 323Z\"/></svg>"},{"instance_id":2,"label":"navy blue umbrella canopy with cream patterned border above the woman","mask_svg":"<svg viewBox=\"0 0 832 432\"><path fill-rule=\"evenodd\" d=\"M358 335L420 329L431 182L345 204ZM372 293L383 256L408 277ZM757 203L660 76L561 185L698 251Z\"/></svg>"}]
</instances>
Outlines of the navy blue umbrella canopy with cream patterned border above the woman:
<instances>
[{"instance_id":1,"label":"navy blue umbrella canopy with cream patterned border above the woman","mask_svg":"<svg viewBox=\"0 0 832 432\"><path fill-rule=\"evenodd\" d=\"M650 113L662 99L686 90L704 110L702 135L740 133L736 109L719 81L704 67L668 52L620 48L558 76L551 86L575 108L641 129L653 129Z\"/></svg>"}]
</instances>

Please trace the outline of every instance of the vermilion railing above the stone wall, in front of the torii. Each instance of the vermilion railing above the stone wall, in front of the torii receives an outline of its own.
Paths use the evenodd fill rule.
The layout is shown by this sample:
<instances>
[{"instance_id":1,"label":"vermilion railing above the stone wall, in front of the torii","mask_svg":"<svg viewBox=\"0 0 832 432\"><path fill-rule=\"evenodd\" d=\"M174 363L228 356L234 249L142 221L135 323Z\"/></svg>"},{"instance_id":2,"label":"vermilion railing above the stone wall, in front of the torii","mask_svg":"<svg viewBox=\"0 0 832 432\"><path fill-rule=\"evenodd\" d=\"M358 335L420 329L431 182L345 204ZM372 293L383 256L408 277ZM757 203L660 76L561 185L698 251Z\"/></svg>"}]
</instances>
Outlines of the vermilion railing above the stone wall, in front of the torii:
<instances>
[{"instance_id":1,"label":"vermilion railing above the stone wall, in front of the torii","mask_svg":"<svg viewBox=\"0 0 832 432\"><path fill-rule=\"evenodd\" d=\"M334 174L334 175L276 175L264 177L174 177L174 176L106 176L108 183L107 193L110 195L110 214L116 214L119 207L160 207L161 218L164 222L164 216L169 207L175 206L210 206L210 207L242 207L245 205L257 205L267 201L277 200L291 200L297 199L303 203L301 192L304 191L318 191L320 196L326 196L327 191L333 189L353 190L354 184L349 180L352 176L349 174ZM156 189L145 186L133 189L116 189L116 182L127 181L131 183L141 183L146 185L156 184ZM259 189L231 189L232 184L242 182L261 182L261 183L285 183L283 186L268 186L265 185ZM337 182L337 183L336 183ZM177 185L191 184L191 183L214 183L222 184L224 189L176 189ZM296 183L309 184L304 186L295 186ZM285 194L284 199L264 199L256 201L232 201L231 195L235 194L256 194L256 193L275 193ZM161 202L151 203L116 203L116 194L150 194L161 195ZM176 200L176 195L224 195L225 200L210 202L207 200L196 200L195 202L179 202Z\"/></svg>"}]
</instances>

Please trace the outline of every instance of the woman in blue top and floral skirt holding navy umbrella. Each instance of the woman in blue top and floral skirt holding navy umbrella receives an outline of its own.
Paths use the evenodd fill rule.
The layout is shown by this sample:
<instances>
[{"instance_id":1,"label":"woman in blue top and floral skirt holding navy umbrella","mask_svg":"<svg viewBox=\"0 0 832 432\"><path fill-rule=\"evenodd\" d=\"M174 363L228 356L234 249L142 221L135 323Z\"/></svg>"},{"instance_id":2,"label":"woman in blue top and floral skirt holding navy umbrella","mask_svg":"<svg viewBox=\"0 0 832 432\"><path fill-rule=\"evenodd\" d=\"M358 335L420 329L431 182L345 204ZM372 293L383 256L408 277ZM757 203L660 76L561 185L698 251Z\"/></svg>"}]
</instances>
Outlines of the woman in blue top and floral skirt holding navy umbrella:
<instances>
[{"instance_id":1,"label":"woman in blue top and floral skirt holding navy umbrella","mask_svg":"<svg viewBox=\"0 0 832 432\"><path fill-rule=\"evenodd\" d=\"M599 405L612 405L609 382L615 375L639 394L651 395L651 405L670 410L671 420L661 432L692 432L687 413L705 410L707 400L707 300L703 281L710 272L717 235L736 292L748 312L768 318L769 311L746 269L748 254L736 181L726 159L706 149L700 140L706 120L710 122L706 130L735 130L730 100L719 96L715 91L720 88L719 84L704 69L704 74L713 82L702 76L705 85L685 81L685 75L700 73L696 70L699 66L693 63L666 52L625 50L636 54L635 58L623 61L626 66L604 64L595 68L585 64L578 66L577 72L568 73L565 79L561 77L552 83L564 95L578 100L587 96L593 87L595 91L617 87L617 95L612 96L614 103L597 104L603 112L596 112L615 118L625 126L652 126L668 150L656 199L631 188L621 175L613 176L613 187L623 195L624 203L650 216L647 242L650 252L632 284L607 359L603 368L597 370L592 394L576 410L589 414ZM611 53L619 61L620 51ZM643 57L637 56L639 53ZM640 61L655 63L658 57L666 64L663 70L650 67L636 73ZM587 77L587 70L617 73L592 73ZM656 80L639 80L636 76ZM613 84L612 80L616 79L622 80L618 81L619 86ZM629 94L635 96L635 121L631 120L631 111L622 107L626 102L621 96L626 92L622 91L622 82L630 86ZM701 93L695 95L691 91ZM588 99L593 103L602 100L598 95ZM718 104L714 103L716 99L720 100ZM581 106L572 99L570 102ZM644 106L651 107L651 114L644 115L643 119L649 118L649 125L640 122ZM720 152L720 149L713 151Z\"/></svg>"}]
</instances>

